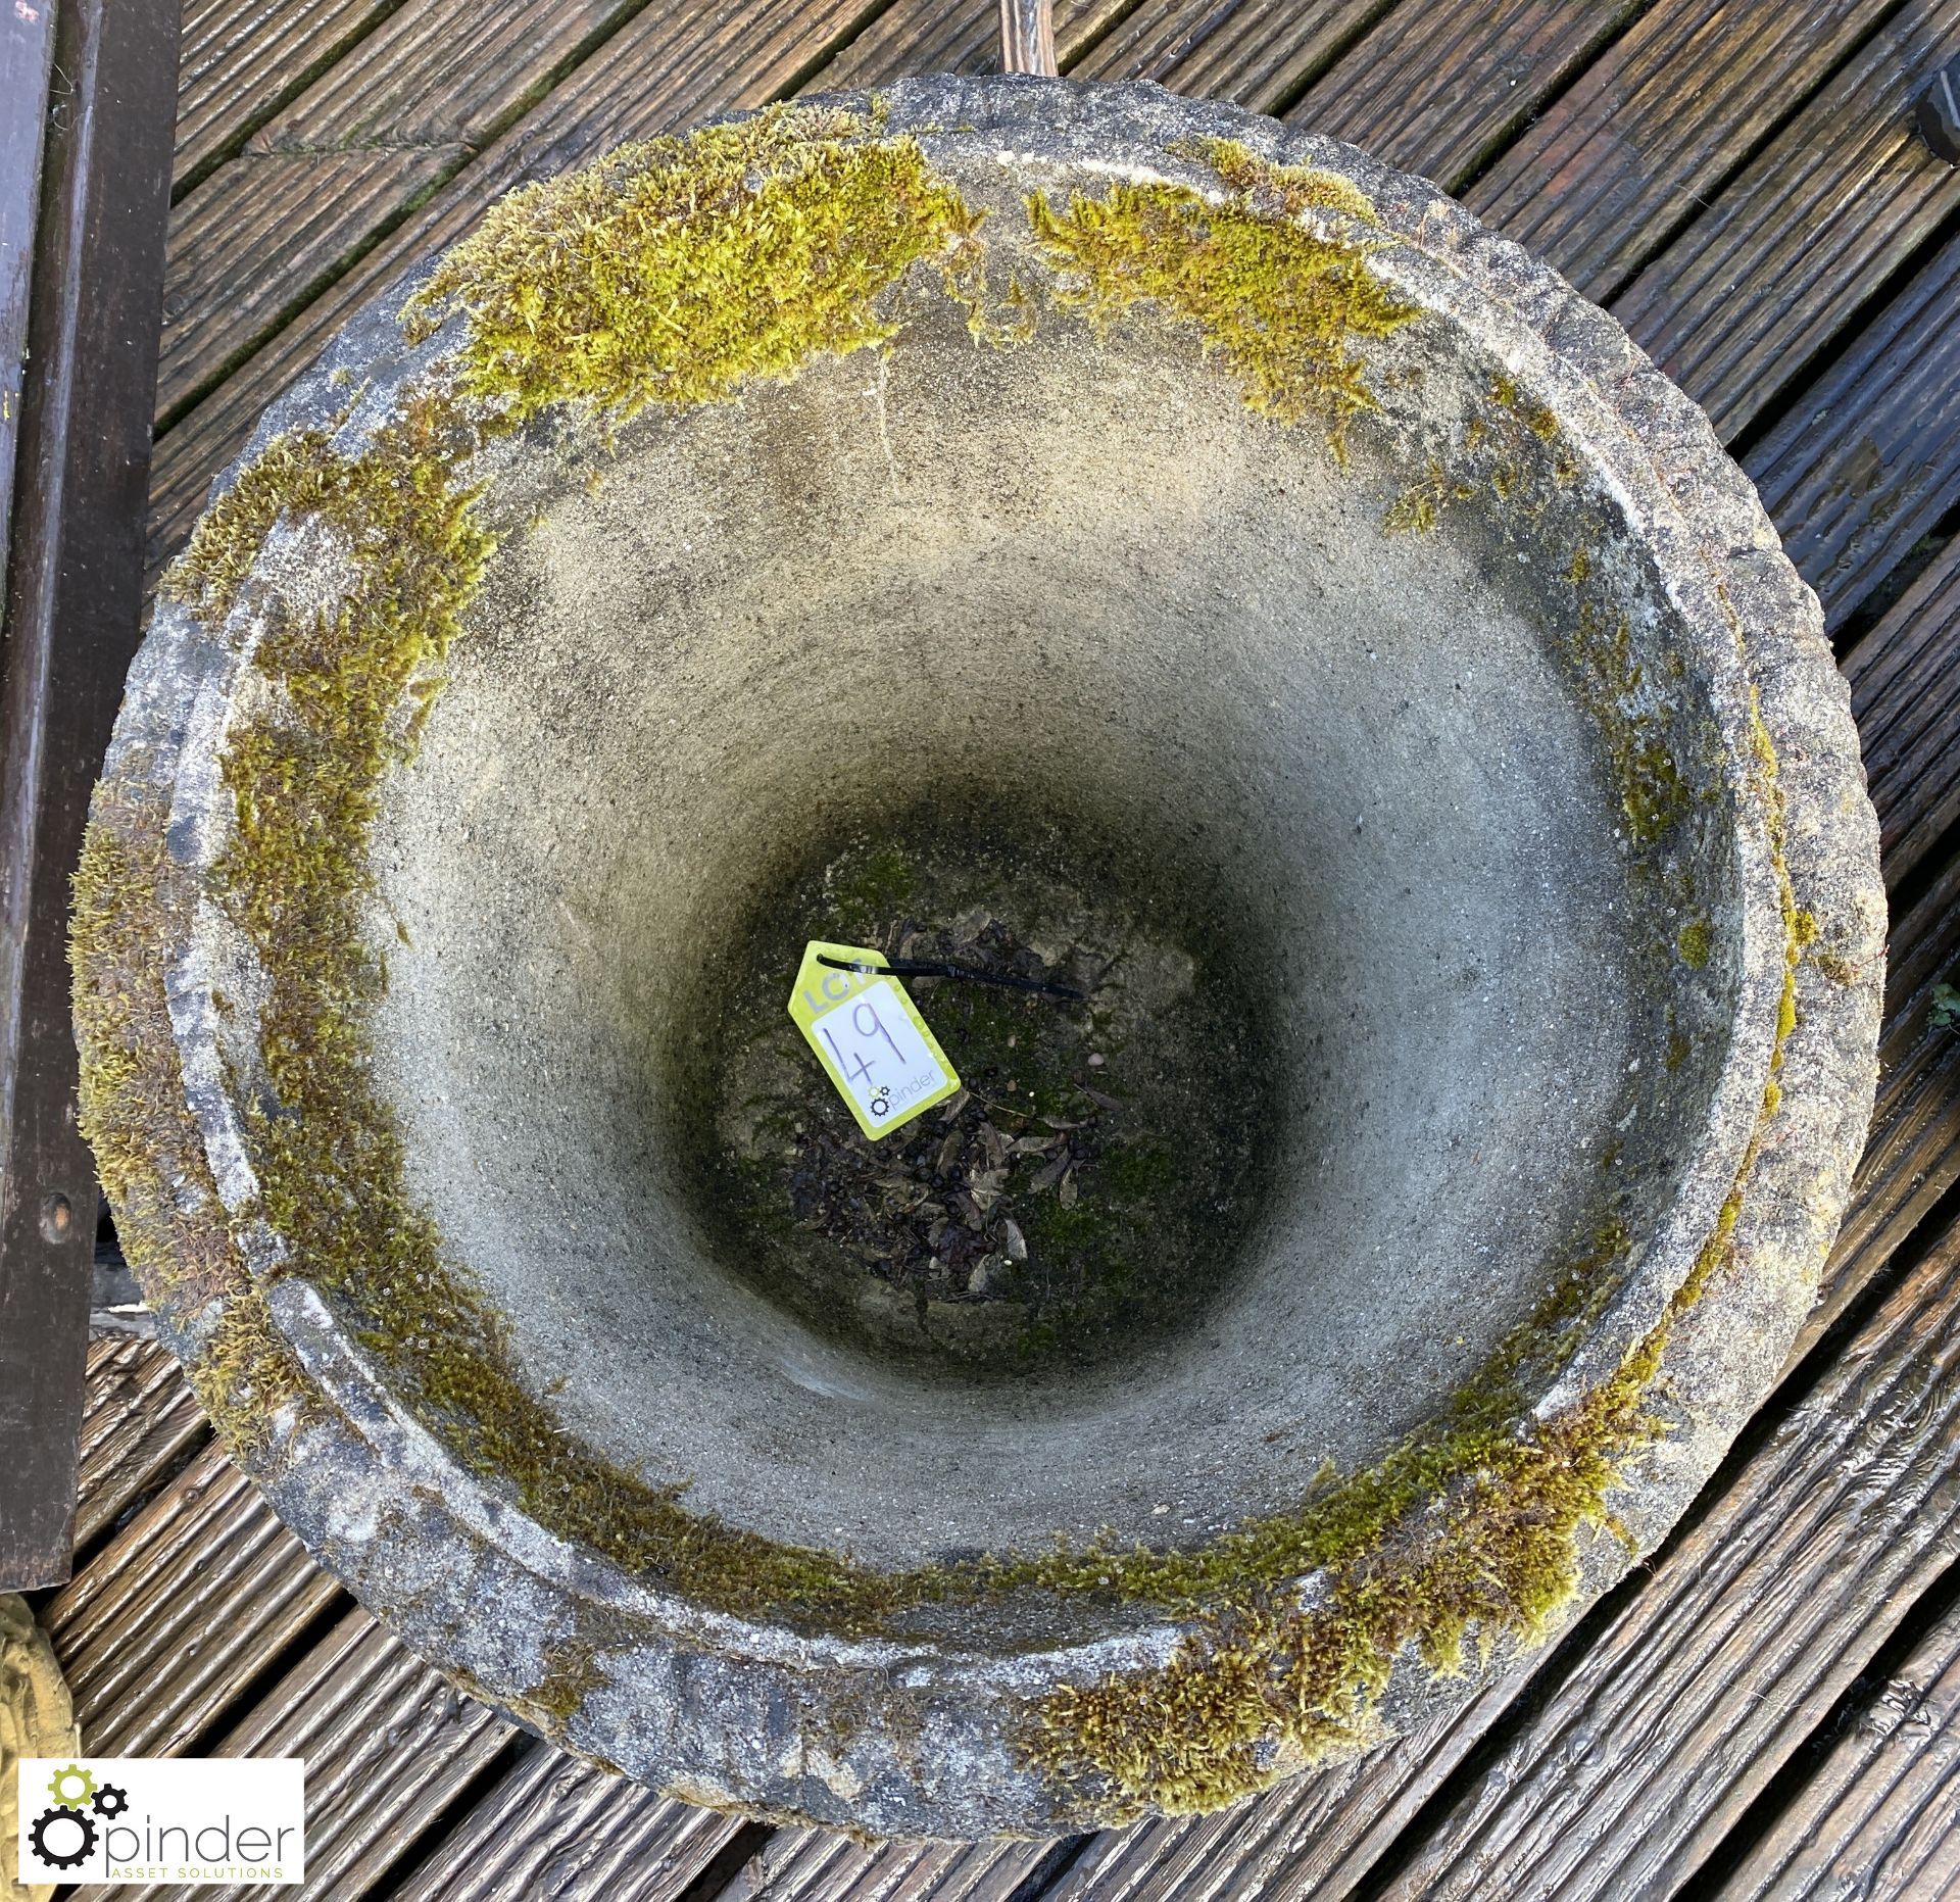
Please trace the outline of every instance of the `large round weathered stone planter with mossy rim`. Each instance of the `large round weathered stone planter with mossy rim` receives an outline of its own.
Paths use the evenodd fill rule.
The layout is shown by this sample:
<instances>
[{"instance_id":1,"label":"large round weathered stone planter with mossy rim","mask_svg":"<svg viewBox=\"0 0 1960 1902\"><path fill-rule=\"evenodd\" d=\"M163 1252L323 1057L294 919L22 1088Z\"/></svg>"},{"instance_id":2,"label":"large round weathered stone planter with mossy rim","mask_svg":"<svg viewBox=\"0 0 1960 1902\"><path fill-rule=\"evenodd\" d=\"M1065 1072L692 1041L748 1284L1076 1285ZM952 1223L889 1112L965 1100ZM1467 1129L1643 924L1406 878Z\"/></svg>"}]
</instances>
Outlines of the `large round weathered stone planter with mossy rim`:
<instances>
[{"instance_id":1,"label":"large round weathered stone planter with mossy rim","mask_svg":"<svg viewBox=\"0 0 1960 1902\"><path fill-rule=\"evenodd\" d=\"M218 484L78 882L129 1253L321 1561L651 1784L962 1837L1364 1749L1652 1547L1811 1302L1884 904L1817 604L1619 327L1027 78L431 271ZM708 1027L886 835L1231 1002L1231 1208L1094 1337L911 1353L717 1200Z\"/></svg>"}]
</instances>

